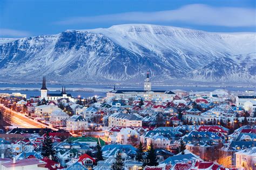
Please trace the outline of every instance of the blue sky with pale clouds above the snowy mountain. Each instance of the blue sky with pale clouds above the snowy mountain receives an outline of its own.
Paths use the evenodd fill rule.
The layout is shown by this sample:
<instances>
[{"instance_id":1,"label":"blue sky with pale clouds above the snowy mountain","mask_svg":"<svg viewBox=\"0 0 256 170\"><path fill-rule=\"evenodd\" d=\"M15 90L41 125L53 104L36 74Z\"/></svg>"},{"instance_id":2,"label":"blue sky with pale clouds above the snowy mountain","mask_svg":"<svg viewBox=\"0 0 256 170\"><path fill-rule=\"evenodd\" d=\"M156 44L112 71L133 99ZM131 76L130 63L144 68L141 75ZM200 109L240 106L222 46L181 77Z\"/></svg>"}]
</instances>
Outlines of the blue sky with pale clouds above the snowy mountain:
<instances>
[{"instance_id":1,"label":"blue sky with pale clouds above the snowy mountain","mask_svg":"<svg viewBox=\"0 0 256 170\"><path fill-rule=\"evenodd\" d=\"M255 4L255 0L1 0L0 37L131 23L211 32L256 32Z\"/></svg>"}]
</instances>

